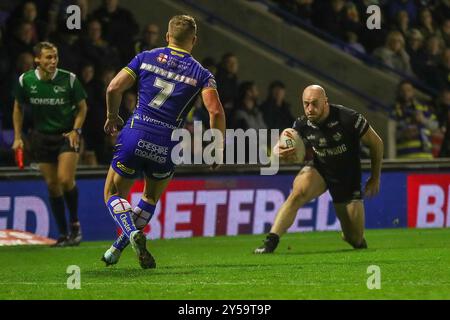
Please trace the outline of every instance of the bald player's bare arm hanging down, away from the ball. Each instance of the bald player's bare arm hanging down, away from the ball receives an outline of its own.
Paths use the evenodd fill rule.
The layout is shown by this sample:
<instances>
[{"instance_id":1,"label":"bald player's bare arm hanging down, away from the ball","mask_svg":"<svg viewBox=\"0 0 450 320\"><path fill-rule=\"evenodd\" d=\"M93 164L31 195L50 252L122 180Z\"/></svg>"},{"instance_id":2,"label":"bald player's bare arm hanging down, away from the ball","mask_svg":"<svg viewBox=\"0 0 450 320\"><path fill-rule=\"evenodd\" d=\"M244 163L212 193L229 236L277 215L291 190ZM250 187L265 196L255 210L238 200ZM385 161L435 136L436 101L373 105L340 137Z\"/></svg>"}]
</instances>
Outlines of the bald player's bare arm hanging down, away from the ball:
<instances>
[{"instance_id":1,"label":"bald player's bare arm hanging down, away from the ball","mask_svg":"<svg viewBox=\"0 0 450 320\"><path fill-rule=\"evenodd\" d=\"M361 138L362 143L370 149L371 175L367 180L364 193L372 197L380 190L381 163L383 161L384 144L380 136L369 127Z\"/></svg>"}]
</instances>

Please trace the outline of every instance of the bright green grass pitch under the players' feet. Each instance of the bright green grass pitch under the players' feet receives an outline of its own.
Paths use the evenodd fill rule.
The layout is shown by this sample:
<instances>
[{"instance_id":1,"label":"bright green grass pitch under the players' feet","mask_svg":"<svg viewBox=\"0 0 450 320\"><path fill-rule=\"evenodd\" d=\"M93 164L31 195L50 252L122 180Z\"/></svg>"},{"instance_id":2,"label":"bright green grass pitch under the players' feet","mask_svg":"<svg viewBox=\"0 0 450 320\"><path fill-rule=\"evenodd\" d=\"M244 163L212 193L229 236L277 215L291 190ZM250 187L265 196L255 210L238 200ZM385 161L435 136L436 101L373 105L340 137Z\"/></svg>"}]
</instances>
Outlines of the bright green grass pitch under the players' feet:
<instances>
[{"instance_id":1,"label":"bright green grass pitch under the players' feet","mask_svg":"<svg viewBox=\"0 0 450 320\"><path fill-rule=\"evenodd\" d=\"M0 299L450 299L450 229L372 230L355 251L337 232L288 234L275 254L259 236L150 241L157 268L131 248L106 268L109 242L76 248L0 247ZM77 265L81 289L67 289ZM371 265L381 289L369 290Z\"/></svg>"}]
</instances>

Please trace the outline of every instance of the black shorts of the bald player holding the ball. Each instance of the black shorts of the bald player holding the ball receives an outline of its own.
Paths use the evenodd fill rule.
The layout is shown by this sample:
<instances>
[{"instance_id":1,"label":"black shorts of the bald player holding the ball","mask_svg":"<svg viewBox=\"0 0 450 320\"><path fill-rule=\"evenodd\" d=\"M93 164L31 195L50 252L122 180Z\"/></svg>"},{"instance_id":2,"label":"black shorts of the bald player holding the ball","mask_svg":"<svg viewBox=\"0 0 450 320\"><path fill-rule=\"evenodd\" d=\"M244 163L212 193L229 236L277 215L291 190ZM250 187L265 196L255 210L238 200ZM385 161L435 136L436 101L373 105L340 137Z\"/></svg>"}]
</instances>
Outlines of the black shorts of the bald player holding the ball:
<instances>
[{"instance_id":1,"label":"black shorts of the bald player holding the ball","mask_svg":"<svg viewBox=\"0 0 450 320\"><path fill-rule=\"evenodd\" d=\"M360 172L354 172L351 176L336 177L327 174L320 166L308 165L315 168L325 180L334 203L348 203L363 198Z\"/></svg>"}]
</instances>

